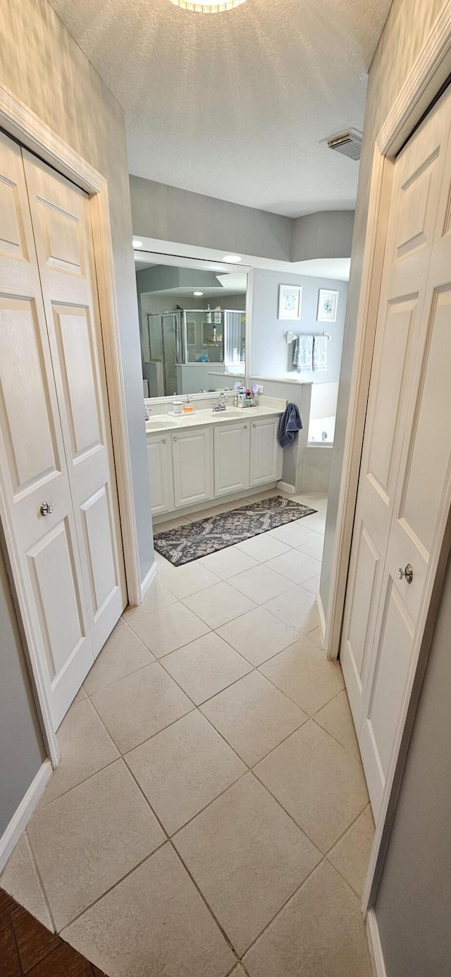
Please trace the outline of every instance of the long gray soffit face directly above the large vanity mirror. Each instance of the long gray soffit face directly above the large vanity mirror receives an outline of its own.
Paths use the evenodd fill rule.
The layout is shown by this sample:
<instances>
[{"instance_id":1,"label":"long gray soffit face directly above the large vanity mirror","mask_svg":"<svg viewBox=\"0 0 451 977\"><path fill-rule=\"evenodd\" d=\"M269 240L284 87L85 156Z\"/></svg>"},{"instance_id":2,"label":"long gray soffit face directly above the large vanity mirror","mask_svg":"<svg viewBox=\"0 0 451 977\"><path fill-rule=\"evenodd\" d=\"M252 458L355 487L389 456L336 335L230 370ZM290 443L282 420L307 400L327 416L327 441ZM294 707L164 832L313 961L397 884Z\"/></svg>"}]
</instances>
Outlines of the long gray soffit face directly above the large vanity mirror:
<instances>
[{"instance_id":1,"label":"long gray soffit face directly above the large vanity mirror","mask_svg":"<svg viewBox=\"0 0 451 977\"><path fill-rule=\"evenodd\" d=\"M134 234L291 260L293 221L202 193L130 177Z\"/></svg>"}]
</instances>

